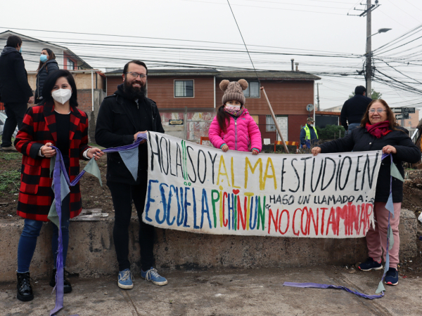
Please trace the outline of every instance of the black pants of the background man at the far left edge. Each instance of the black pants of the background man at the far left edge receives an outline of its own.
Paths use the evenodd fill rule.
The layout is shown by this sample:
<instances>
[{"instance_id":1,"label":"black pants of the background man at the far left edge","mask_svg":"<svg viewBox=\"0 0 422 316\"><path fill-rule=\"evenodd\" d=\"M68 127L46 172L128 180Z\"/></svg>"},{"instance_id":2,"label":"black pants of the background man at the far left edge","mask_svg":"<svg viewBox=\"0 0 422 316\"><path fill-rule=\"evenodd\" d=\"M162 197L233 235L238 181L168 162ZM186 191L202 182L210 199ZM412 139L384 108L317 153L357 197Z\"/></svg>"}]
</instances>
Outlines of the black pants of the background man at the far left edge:
<instances>
[{"instance_id":1,"label":"black pants of the background man at the far left edge","mask_svg":"<svg viewBox=\"0 0 422 316\"><path fill-rule=\"evenodd\" d=\"M22 126L23 116L27 110L27 103L4 103L7 119L3 127L3 142L1 147L11 147L12 136L15 132L16 125L18 129Z\"/></svg>"}]
</instances>

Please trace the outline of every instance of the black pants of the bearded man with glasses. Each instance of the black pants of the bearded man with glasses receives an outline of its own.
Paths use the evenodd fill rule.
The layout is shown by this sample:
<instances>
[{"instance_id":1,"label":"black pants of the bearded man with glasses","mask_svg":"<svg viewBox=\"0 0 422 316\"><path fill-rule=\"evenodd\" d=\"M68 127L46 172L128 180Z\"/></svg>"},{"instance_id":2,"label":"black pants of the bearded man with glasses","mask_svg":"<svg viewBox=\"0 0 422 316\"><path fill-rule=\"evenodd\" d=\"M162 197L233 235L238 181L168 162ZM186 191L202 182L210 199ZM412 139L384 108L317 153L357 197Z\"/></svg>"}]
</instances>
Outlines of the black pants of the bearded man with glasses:
<instances>
[{"instance_id":1,"label":"black pants of the bearded man with glasses","mask_svg":"<svg viewBox=\"0 0 422 316\"><path fill-rule=\"evenodd\" d=\"M129 223L132 216L132 201L139 218L139 244L141 246L142 270L149 270L154 263L154 227L143 223L142 213L145 206L147 177L142 177L140 185L128 185L107 181L115 208L113 239L119 263L119 271L130 269L129 259Z\"/></svg>"}]
</instances>

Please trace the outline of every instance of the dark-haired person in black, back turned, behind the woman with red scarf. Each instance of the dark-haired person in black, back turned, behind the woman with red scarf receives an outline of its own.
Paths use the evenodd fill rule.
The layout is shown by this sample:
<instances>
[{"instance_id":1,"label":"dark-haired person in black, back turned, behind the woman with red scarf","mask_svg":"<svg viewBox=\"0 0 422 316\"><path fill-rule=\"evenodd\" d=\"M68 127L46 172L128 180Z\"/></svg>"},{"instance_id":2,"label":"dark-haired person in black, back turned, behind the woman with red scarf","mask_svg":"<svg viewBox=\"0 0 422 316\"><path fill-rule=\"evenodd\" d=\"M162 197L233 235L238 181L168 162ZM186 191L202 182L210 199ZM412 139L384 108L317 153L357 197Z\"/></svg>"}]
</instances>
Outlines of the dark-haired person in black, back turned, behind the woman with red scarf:
<instances>
[{"instance_id":1,"label":"dark-haired person in black, back turned, behind the woman with red scarf","mask_svg":"<svg viewBox=\"0 0 422 316\"><path fill-rule=\"evenodd\" d=\"M364 86L354 88L354 96L345 102L340 113L340 121L345 127L346 135L360 126L360 121L371 101L371 98L366 97Z\"/></svg>"}]
</instances>

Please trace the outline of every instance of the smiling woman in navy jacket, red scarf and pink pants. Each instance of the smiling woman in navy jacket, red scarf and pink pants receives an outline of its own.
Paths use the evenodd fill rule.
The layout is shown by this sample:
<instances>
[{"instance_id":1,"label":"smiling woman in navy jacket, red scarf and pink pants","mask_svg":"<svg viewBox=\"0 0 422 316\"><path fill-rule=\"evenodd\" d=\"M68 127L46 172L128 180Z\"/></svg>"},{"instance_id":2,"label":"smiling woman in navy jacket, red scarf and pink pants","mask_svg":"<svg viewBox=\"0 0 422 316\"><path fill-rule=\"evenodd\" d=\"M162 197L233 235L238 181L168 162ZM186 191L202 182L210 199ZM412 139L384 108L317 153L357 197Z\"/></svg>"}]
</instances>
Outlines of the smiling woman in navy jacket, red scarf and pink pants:
<instances>
[{"instance_id":1,"label":"smiling woman in navy jacket, red scarf and pink pants","mask_svg":"<svg viewBox=\"0 0 422 316\"><path fill-rule=\"evenodd\" d=\"M382 150L385 154L392 154L392 162L404 176L402 162L416 163L421 159L421 152L411 141L406 130L395 122L395 115L384 100L373 100L361 121L361 126L354 129L348 136L329 143L324 143L312 149L312 154L320 152L364 152L368 150ZM378 180L376 183L374 218L375 229L369 228L366 233L369 258L359 265L363 271L380 270L381 255L385 261L385 247L387 244L388 209L385 204L390 195L390 158L383 159ZM397 285L399 275L399 220L403 200L403 183L392 178L392 202L394 205L394 218L390 217L390 225L394 235L394 245L389 250L390 266L385 275L385 284Z\"/></svg>"}]
</instances>

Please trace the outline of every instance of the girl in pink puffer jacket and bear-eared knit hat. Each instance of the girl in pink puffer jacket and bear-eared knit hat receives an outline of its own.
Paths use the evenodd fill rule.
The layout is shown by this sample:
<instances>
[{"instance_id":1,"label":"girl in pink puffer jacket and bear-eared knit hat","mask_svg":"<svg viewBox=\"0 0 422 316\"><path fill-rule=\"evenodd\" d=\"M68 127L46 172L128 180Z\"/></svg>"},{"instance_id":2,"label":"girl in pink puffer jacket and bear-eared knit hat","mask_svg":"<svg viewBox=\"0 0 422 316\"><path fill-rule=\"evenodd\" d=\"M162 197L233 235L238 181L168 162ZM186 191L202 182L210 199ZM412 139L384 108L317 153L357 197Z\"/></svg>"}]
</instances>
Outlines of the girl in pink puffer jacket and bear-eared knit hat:
<instances>
[{"instance_id":1,"label":"girl in pink puffer jacket and bear-eared knit hat","mask_svg":"<svg viewBox=\"0 0 422 316\"><path fill-rule=\"evenodd\" d=\"M223 152L239 150L258 154L262 150L261 132L244 106L243 90L248 88L248 81L223 80L219 87L224 91L223 105L208 131L210 142Z\"/></svg>"}]
</instances>

